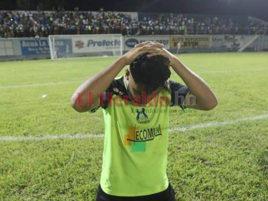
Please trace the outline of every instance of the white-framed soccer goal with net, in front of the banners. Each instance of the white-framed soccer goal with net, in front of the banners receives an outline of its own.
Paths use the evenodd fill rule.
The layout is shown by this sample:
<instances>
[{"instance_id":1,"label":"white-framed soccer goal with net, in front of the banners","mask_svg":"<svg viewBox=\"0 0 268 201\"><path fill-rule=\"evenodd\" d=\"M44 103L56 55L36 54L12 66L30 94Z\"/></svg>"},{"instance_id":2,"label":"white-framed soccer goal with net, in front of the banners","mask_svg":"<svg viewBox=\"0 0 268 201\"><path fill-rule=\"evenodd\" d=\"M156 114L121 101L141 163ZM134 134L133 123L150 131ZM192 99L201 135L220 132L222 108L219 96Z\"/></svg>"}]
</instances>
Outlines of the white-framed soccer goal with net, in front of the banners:
<instances>
[{"instance_id":1,"label":"white-framed soccer goal with net, in front of the banners","mask_svg":"<svg viewBox=\"0 0 268 201\"><path fill-rule=\"evenodd\" d=\"M121 56L121 34L49 35L51 60L90 56Z\"/></svg>"}]
</instances>

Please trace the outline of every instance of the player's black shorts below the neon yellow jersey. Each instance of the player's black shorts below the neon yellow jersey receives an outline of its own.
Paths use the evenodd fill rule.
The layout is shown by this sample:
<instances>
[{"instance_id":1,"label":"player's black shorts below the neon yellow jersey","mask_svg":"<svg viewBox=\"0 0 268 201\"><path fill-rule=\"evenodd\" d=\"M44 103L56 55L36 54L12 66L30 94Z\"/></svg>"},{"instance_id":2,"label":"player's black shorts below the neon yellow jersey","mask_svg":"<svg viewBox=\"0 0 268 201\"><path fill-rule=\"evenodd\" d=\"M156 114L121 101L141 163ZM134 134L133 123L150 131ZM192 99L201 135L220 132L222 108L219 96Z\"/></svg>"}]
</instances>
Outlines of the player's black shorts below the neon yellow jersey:
<instances>
[{"instance_id":1,"label":"player's black shorts below the neon yellow jersey","mask_svg":"<svg viewBox=\"0 0 268 201\"><path fill-rule=\"evenodd\" d=\"M168 188L159 193L144 196L123 197L106 194L99 184L96 201L175 201L175 192L169 183Z\"/></svg>"}]
</instances>

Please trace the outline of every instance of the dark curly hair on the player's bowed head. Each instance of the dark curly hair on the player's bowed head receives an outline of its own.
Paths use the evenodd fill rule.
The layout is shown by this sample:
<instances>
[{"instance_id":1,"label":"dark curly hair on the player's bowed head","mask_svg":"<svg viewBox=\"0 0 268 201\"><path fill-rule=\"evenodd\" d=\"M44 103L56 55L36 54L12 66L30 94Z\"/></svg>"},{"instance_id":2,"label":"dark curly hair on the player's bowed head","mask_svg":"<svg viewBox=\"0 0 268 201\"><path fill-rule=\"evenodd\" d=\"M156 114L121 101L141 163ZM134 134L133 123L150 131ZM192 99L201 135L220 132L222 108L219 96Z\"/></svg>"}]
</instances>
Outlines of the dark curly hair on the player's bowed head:
<instances>
[{"instance_id":1,"label":"dark curly hair on the player's bowed head","mask_svg":"<svg viewBox=\"0 0 268 201\"><path fill-rule=\"evenodd\" d=\"M147 57L147 54L149 53L138 55L130 64L134 81L144 84L147 92L152 92L158 87L163 87L170 92L167 81L171 75L169 58L163 55Z\"/></svg>"}]
</instances>

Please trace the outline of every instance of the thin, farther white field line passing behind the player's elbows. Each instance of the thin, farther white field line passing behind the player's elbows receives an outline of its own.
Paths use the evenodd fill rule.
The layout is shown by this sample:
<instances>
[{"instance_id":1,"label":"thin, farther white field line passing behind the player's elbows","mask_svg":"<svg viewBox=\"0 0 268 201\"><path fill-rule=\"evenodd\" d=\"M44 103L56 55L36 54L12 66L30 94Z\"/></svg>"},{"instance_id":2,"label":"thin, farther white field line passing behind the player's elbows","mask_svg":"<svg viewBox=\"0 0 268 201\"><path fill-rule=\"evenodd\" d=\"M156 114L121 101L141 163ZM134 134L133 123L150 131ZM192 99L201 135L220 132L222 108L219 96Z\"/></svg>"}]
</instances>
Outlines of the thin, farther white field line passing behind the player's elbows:
<instances>
[{"instance_id":1,"label":"thin, farther white field line passing behind the player's elbows","mask_svg":"<svg viewBox=\"0 0 268 201\"><path fill-rule=\"evenodd\" d=\"M267 69L268 68L250 68L250 69L223 70L223 71L203 71L203 72L201 71L201 72L196 72L196 73L201 74L201 73L223 73L223 72L239 72L239 71L260 71L260 70L267 70ZM66 81L66 82L47 82L47 83L28 84L28 85L7 85L7 86L0 86L0 89L17 88L17 87L43 86L43 85L56 85L56 84L66 84L66 83L73 83L73 82L83 82L83 80Z\"/></svg>"}]
</instances>

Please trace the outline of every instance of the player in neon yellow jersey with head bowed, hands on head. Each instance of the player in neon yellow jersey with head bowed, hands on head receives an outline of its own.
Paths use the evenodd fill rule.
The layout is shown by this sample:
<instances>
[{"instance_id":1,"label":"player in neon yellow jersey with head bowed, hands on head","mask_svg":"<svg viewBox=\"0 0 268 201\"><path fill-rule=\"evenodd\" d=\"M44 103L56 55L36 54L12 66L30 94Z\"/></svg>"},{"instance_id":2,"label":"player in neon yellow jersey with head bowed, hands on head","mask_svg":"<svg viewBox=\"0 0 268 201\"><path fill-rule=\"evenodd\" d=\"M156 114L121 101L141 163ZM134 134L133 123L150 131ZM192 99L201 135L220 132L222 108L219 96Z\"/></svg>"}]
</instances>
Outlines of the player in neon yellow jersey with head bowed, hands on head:
<instances>
[{"instance_id":1,"label":"player in neon yellow jersey with head bowed, hands on head","mask_svg":"<svg viewBox=\"0 0 268 201\"><path fill-rule=\"evenodd\" d=\"M126 74L115 78L127 65ZM169 80L169 66L186 85ZM169 109L177 105L211 110L217 99L205 81L162 44L146 41L86 80L70 103L78 112L103 110L97 201L174 201L166 174Z\"/></svg>"}]
</instances>

